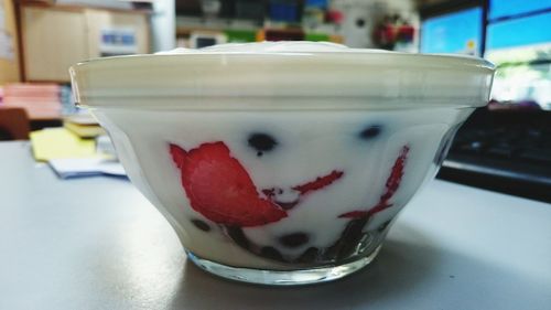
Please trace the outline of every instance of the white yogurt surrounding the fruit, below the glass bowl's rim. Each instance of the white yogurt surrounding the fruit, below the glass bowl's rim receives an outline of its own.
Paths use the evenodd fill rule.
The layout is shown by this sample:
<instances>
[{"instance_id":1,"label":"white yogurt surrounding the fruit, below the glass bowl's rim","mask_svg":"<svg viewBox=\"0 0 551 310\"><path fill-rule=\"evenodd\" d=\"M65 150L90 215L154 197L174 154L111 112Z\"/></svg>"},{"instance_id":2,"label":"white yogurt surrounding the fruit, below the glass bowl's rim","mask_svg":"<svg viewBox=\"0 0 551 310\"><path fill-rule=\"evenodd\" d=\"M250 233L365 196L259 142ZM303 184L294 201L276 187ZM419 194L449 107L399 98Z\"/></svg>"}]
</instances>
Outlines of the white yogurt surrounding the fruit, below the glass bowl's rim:
<instances>
[{"instance_id":1,"label":"white yogurt surrounding the fruit, below the glass bowl's rim","mask_svg":"<svg viewBox=\"0 0 551 310\"><path fill-rule=\"evenodd\" d=\"M385 192L385 183L402 146L410 146L402 182L390 200L392 207L375 215L366 229L391 220L410 200L428 174L435 172L434 158L447 130L467 110L404 111L233 111L96 110L111 133L133 182L174 222L184 246L196 255L231 266L292 268L244 250L224 236L216 223L194 211L181 184L181 175L168 146L186 150L205 142L224 141L248 171L257 189L291 189L333 170L344 175L333 184L306 195L289 216L262 226L244 228L259 245L278 248L294 259L309 247L326 248L341 236L347 220L341 214L368 210ZM159 124L159 120L162 120ZM114 125L117 124L117 125ZM156 126L148 126L158 124ZM370 140L359 132L378 125L381 132ZM123 135L122 132L130 132ZM247 143L252 132L266 132L278 146L261 157ZM122 150L123 149L123 150ZM137 153L129 158L125 154ZM432 175L431 175L432 177ZM201 218L213 228L203 232L191 220ZM309 243L289 248L278 243L285 234L303 232Z\"/></svg>"}]
</instances>

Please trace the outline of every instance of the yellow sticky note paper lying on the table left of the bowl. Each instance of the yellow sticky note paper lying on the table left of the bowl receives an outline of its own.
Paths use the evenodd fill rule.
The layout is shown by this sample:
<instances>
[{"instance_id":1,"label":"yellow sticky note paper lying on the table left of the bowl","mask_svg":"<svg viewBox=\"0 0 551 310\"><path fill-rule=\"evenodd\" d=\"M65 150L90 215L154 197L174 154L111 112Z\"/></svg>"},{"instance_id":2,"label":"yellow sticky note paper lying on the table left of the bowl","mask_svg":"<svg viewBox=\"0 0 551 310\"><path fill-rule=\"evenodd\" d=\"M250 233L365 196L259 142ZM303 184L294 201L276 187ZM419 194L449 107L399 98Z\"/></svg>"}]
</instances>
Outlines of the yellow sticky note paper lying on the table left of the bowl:
<instances>
[{"instance_id":1,"label":"yellow sticky note paper lying on the table left of the bowl","mask_svg":"<svg viewBox=\"0 0 551 310\"><path fill-rule=\"evenodd\" d=\"M65 128L48 128L31 132L33 154L36 160L62 158L91 158L96 153L94 140L83 140Z\"/></svg>"}]
</instances>

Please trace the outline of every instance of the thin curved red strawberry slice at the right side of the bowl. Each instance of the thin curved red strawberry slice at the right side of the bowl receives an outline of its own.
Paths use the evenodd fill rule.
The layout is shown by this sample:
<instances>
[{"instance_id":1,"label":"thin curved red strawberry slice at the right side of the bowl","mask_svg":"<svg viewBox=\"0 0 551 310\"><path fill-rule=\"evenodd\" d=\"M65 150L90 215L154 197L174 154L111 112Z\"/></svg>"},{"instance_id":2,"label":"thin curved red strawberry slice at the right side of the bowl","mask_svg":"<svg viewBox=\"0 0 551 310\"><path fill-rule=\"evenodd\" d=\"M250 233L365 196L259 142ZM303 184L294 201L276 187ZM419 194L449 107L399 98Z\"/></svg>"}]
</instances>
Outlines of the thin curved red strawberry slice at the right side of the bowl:
<instances>
[{"instance_id":1,"label":"thin curved red strawberry slice at the right side of the bowl","mask_svg":"<svg viewBox=\"0 0 551 310\"><path fill-rule=\"evenodd\" d=\"M374 214L381 212L388 207L391 207L392 204L389 203L389 200L395 195L396 191L400 186L400 182L403 177L403 169L406 168L406 159L408 158L408 152L410 148L408 146L403 146L400 150L400 154L395 161L392 169L390 170L390 175L387 179L387 183L385 184L386 190L385 193L379 199L379 202L369 209L368 211L352 211L344 214L341 214L338 217L343 218L369 218Z\"/></svg>"}]
</instances>

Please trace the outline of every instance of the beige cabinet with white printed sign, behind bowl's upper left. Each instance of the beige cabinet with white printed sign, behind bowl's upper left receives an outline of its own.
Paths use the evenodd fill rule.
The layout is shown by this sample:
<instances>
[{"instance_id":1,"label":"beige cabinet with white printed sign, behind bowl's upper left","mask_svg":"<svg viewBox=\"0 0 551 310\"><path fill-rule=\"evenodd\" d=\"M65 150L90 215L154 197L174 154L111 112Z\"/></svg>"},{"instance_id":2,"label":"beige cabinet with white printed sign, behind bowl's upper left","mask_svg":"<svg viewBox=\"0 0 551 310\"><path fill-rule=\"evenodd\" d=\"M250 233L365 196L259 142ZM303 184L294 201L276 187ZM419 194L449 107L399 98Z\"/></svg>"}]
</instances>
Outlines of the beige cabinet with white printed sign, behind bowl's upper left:
<instances>
[{"instance_id":1,"label":"beige cabinet with white printed sign, behind bowl's upper left","mask_svg":"<svg viewBox=\"0 0 551 310\"><path fill-rule=\"evenodd\" d=\"M125 33L126 45L118 44L117 33ZM75 63L104 55L148 53L149 14L22 6L21 40L25 81L67 83L68 67Z\"/></svg>"}]
</instances>

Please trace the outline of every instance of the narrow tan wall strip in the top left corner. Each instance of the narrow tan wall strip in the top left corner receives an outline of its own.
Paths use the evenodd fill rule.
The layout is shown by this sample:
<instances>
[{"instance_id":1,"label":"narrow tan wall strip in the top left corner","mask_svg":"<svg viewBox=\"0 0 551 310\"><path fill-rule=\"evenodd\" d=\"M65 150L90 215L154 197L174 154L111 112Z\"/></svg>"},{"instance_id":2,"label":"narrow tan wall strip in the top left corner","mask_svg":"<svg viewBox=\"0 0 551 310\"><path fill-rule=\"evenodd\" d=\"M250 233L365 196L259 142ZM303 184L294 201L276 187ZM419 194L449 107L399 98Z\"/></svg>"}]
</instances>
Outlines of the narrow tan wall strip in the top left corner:
<instances>
[{"instance_id":1,"label":"narrow tan wall strip in the top left corner","mask_svg":"<svg viewBox=\"0 0 551 310\"><path fill-rule=\"evenodd\" d=\"M19 82L19 49L11 0L0 0L0 85Z\"/></svg>"}]
</instances>

